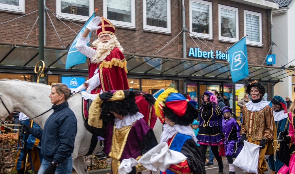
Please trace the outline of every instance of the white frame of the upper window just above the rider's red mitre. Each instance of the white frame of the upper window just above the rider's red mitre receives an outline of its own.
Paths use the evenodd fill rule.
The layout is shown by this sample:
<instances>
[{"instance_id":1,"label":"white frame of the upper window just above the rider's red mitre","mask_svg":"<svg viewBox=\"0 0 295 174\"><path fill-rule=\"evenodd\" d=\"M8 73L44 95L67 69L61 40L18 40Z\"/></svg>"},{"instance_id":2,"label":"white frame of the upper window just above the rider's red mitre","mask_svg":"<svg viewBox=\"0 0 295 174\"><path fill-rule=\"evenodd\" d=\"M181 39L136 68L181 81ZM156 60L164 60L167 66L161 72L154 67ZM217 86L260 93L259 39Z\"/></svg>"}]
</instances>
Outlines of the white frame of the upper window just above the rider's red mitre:
<instances>
[{"instance_id":1,"label":"white frame of the upper window just above the rider's red mitre","mask_svg":"<svg viewBox=\"0 0 295 174\"><path fill-rule=\"evenodd\" d=\"M107 11L107 0L103 0L103 16L107 18L108 11ZM110 20L113 25L120 26L120 27L127 27L127 28L135 28L135 0L131 0L131 22L122 22L117 20Z\"/></svg>"}]
</instances>

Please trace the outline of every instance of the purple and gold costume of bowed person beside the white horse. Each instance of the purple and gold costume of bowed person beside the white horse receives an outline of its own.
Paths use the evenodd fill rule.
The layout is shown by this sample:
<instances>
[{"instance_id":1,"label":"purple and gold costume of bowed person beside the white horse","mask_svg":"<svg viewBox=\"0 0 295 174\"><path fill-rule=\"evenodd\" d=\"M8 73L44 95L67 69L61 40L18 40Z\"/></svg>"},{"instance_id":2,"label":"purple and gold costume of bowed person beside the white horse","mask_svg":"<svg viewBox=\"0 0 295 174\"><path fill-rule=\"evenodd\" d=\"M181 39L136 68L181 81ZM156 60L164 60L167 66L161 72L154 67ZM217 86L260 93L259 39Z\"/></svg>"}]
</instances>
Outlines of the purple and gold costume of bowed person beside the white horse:
<instances>
[{"instance_id":1,"label":"purple and gold costume of bowed person beside the white horse","mask_svg":"<svg viewBox=\"0 0 295 174\"><path fill-rule=\"evenodd\" d=\"M142 118L130 126L131 128L128 130L124 130L124 127L129 126L120 129L115 128L114 122L109 122L106 126L104 150L106 154L112 157L112 173L117 173L118 163L122 160L131 157L139 159L142 154L158 144L153 130ZM123 140L123 143L121 140Z\"/></svg>"}]
</instances>

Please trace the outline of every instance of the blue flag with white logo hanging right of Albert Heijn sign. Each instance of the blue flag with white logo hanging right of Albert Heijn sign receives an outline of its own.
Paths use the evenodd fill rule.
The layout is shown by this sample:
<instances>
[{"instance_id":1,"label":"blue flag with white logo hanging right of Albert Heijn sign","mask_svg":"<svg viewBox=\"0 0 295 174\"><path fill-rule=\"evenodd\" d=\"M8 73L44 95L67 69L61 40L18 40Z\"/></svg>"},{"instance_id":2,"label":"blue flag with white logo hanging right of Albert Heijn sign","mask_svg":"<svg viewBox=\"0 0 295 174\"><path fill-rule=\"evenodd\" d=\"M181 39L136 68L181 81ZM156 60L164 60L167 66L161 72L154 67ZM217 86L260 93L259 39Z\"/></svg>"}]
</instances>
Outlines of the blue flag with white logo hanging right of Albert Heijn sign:
<instances>
[{"instance_id":1,"label":"blue flag with white logo hanging right of Albert Heijn sign","mask_svg":"<svg viewBox=\"0 0 295 174\"><path fill-rule=\"evenodd\" d=\"M230 54L230 74L232 76L232 82L235 83L238 80L248 77L246 37L231 46L228 52Z\"/></svg>"}]
</instances>

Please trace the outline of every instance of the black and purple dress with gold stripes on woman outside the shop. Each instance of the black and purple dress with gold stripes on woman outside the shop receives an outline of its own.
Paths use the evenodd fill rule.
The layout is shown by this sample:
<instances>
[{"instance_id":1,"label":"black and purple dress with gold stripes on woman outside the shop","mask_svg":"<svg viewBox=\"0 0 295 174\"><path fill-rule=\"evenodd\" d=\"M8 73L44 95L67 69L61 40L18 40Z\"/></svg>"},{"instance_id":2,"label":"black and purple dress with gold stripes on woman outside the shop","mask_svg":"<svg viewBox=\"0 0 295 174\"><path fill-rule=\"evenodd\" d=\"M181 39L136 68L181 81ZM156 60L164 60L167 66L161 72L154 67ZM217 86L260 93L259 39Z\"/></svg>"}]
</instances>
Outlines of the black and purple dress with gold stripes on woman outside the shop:
<instances>
[{"instance_id":1,"label":"black and purple dress with gold stripes on woman outside the shop","mask_svg":"<svg viewBox=\"0 0 295 174\"><path fill-rule=\"evenodd\" d=\"M199 110L200 128L197 135L198 144L218 146L222 144L222 114L215 105L204 105Z\"/></svg>"}]
</instances>

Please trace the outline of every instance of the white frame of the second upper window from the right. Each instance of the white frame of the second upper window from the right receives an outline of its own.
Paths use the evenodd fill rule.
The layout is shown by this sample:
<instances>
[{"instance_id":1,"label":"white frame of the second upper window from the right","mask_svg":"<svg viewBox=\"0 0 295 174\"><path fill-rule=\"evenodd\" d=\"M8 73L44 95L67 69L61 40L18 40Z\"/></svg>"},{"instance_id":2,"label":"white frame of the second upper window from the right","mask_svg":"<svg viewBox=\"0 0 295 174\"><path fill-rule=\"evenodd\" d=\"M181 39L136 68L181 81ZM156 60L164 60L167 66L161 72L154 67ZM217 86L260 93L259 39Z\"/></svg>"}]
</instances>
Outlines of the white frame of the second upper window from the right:
<instances>
[{"instance_id":1,"label":"white frame of the second upper window from the right","mask_svg":"<svg viewBox=\"0 0 295 174\"><path fill-rule=\"evenodd\" d=\"M221 15L220 15L221 9L227 9L227 10L232 10L236 12L236 38L221 36ZM239 40L239 9L238 8L218 4L218 36L219 36L219 41L237 42Z\"/></svg>"}]
</instances>

